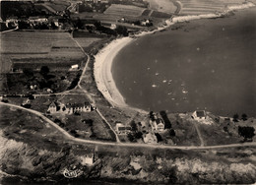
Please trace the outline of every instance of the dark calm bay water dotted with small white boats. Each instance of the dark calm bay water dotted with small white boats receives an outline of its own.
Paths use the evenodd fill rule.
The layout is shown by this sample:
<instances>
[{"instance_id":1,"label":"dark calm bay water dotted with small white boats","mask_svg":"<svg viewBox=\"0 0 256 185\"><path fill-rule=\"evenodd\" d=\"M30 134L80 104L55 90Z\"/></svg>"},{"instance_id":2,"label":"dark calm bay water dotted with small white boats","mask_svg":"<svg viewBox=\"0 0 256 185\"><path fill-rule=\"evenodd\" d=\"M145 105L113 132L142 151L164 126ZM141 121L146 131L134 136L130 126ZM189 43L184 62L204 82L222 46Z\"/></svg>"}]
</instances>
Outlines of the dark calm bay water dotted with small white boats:
<instances>
[{"instance_id":1,"label":"dark calm bay water dotted with small white boats","mask_svg":"<svg viewBox=\"0 0 256 185\"><path fill-rule=\"evenodd\" d=\"M256 8L140 37L112 73L126 102L145 110L256 116Z\"/></svg>"}]
</instances>

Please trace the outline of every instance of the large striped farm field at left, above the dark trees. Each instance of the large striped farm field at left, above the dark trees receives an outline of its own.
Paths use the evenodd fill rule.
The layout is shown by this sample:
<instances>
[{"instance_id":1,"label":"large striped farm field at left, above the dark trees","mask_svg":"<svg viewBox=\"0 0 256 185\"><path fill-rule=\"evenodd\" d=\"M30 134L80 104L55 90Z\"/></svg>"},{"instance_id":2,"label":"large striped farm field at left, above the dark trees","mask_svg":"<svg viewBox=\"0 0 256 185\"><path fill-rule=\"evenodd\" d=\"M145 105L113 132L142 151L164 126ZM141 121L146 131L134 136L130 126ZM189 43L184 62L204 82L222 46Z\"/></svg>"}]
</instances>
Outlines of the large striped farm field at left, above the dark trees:
<instances>
[{"instance_id":1,"label":"large striped farm field at left, above the dark trees","mask_svg":"<svg viewBox=\"0 0 256 185\"><path fill-rule=\"evenodd\" d=\"M84 58L84 53L68 32L7 32L1 34L0 53L1 73L10 72L12 61L77 63Z\"/></svg>"}]
</instances>

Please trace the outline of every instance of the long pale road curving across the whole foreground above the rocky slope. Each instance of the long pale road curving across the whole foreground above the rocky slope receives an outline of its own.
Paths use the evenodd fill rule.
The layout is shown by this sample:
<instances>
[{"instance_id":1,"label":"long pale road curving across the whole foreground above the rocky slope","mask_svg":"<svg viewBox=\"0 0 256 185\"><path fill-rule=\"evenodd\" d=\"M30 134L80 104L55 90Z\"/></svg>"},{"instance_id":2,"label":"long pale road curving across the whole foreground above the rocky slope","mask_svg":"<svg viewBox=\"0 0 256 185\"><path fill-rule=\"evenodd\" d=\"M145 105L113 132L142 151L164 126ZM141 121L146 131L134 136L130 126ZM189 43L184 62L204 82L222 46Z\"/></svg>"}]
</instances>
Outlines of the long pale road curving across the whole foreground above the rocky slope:
<instances>
[{"instance_id":1,"label":"long pale road curving across the whole foreground above the rocky slope","mask_svg":"<svg viewBox=\"0 0 256 185\"><path fill-rule=\"evenodd\" d=\"M129 144L129 143L111 143L111 142L101 142L101 141L92 141L92 140L86 140L86 139L80 139L75 138L71 136L67 131L62 129L60 126L58 126L56 123L45 117L42 113L28 109L19 105L10 104L10 103L4 103L0 102L0 105L4 106L10 106L19 108L28 112L31 112L37 116L39 116L41 119L55 127L58 131L60 131L67 139L70 141L80 143L80 144L95 144L95 145L102 145L102 146L118 146L118 147L132 147L132 148L150 148L150 149L179 149L179 150L209 150L209 149L225 149L225 148L237 148L237 147L256 147L256 142L251 143L244 143L244 144L230 144L230 145L219 145L219 146L164 146L164 145L149 145L149 144Z\"/></svg>"}]
</instances>

